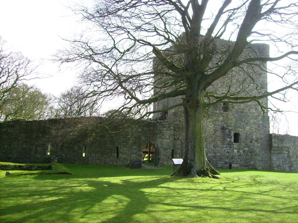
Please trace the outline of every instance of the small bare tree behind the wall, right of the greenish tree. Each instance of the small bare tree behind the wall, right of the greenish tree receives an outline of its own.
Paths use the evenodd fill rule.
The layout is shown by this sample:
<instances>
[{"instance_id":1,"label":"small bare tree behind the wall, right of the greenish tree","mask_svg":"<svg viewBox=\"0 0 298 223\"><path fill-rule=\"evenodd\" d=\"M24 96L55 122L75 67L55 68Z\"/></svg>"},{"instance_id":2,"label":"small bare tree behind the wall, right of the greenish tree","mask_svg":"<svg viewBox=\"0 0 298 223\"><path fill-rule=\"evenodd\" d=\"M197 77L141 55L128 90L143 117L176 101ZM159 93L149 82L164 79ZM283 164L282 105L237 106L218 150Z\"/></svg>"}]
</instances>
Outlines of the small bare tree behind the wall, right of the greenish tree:
<instances>
[{"instance_id":1,"label":"small bare tree behind the wall, right of the greenish tree","mask_svg":"<svg viewBox=\"0 0 298 223\"><path fill-rule=\"evenodd\" d=\"M99 113L95 96L84 95L81 87L72 87L55 98L57 117L93 116Z\"/></svg>"}]
</instances>

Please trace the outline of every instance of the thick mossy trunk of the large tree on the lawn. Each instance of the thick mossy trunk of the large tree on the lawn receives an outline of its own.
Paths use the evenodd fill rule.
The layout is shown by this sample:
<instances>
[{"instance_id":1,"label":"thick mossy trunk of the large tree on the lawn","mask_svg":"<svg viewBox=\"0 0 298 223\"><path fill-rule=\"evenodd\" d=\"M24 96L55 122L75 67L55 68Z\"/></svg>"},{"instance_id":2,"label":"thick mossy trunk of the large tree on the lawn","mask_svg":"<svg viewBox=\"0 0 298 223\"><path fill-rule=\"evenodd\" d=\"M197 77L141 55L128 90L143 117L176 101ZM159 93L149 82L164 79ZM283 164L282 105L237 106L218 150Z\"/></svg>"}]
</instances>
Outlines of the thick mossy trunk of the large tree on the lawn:
<instances>
[{"instance_id":1,"label":"thick mossy trunk of the large tree on the lawn","mask_svg":"<svg viewBox=\"0 0 298 223\"><path fill-rule=\"evenodd\" d=\"M172 175L205 176L218 178L209 163L204 145L204 97L190 99L184 106L185 156L183 163Z\"/></svg>"}]
</instances>

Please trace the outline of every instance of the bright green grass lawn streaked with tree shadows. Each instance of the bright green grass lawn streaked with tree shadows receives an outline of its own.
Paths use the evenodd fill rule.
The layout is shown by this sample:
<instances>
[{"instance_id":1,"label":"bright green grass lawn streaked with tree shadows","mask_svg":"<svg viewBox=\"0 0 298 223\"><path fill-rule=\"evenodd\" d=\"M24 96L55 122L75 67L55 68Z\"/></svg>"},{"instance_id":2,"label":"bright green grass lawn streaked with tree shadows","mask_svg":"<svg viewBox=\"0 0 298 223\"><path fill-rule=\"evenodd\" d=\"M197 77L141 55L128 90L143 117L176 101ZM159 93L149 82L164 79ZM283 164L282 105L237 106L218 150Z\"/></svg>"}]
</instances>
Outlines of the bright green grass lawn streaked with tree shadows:
<instances>
[{"instance_id":1,"label":"bright green grass lawn streaked with tree shadows","mask_svg":"<svg viewBox=\"0 0 298 223\"><path fill-rule=\"evenodd\" d=\"M298 173L64 165L73 175L0 172L0 222L298 222Z\"/></svg>"}]
</instances>

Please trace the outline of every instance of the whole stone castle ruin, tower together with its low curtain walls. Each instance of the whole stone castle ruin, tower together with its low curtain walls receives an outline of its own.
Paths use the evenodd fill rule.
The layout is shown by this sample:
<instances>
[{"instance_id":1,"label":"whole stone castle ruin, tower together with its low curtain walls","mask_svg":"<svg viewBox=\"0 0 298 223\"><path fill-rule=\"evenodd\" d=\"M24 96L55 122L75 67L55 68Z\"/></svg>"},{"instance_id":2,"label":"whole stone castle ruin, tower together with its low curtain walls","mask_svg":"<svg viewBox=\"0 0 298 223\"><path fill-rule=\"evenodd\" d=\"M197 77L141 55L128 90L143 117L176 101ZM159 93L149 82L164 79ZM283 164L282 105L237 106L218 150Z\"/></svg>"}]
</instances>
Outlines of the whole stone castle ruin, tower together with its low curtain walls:
<instances>
[{"instance_id":1,"label":"whole stone castle ruin, tower together with its low curtain walls","mask_svg":"<svg viewBox=\"0 0 298 223\"><path fill-rule=\"evenodd\" d=\"M256 52L266 56L269 47L253 44L246 53ZM240 81L232 87L241 88L239 83L242 81L247 85L242 95L248 92L253 95L260 89L267 91L266 65L260 65L259 69L254 83L252 79L242 79L241 70L234 70L230 75ZM229 78L231 76L211 88L226 91ZM153 109L162 110L179 100L181 98L159 101ZM267 99L263 104L268 106ZM0 161L48 163L57 160L73 164L126 165L130 161L148 159L156 166L172 165L172 158L184 157L182 115L181 110L156 113L152 120L140 120L116 134L62 131L69 123L78 120L100 124L105 121L102 117L3 122L0 123ZM213 167L298 172L298 136L270 134L268 114L260 112L253 103L222 103L210 109L208 117L205 149Z\"/></svg>"}]
</instances>

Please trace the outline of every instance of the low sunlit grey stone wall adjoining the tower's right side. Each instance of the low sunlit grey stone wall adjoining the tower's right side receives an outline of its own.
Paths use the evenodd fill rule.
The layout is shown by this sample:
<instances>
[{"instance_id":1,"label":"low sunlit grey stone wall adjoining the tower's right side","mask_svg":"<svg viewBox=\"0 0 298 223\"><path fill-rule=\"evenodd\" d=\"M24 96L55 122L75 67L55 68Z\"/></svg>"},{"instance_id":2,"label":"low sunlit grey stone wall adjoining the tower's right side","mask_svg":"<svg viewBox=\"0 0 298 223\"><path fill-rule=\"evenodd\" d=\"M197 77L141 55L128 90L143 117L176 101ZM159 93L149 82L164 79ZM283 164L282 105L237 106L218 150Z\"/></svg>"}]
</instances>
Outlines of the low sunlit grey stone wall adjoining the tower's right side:
<instances>
[{"instance_id":1,"label":"low sunlit grey stone wall adjoining the tower's right side","mask_svg":"<svg viewBox=\"0 0 298 223\"><path fill-rule=\"evenodd\" d=\"M298 172L298 136L271 134L271 169Z\"/></svg>"}]
</instances>

